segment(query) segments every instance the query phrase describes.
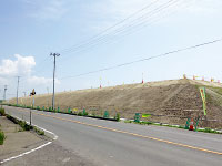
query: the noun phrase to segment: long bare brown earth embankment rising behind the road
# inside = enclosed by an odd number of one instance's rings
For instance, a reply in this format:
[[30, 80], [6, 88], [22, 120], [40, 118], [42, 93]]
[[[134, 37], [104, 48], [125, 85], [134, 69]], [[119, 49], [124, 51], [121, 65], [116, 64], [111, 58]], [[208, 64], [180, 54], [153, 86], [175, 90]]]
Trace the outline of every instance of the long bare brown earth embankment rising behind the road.
[[[200, 125], [222, 127], [222, 85], [205, 81], [171, 80], [62, 92], [56, 94], [56, 107], [80, 111], [85, 107], [98, 115], [108, 110], [112, 116], [120, 113], [125, 118], [133, 118], [134, 113], [148, 113], [152, 114], [149, 121], [184, 125], [188, 116], [203, 115], [199, 86], [206, 87], [209, 120]], [[38, 106], [51, 106], [51, 94], [36, 95], [34, 101]], [[31, 97], [19, 102], [31, 105]], [[10, 103], [16, 103], [16, 98]]]

